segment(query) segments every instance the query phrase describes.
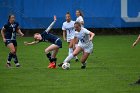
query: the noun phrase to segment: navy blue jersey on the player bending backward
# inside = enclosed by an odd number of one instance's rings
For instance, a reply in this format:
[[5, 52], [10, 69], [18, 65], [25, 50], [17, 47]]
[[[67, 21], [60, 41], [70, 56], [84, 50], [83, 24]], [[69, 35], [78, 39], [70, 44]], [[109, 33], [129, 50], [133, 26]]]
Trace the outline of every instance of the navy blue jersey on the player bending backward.
[[53, 34], [50, 34], [50, 33], [47, 33], [46, 31], [44, 31], [42, 34], [42, 40], [40, 40], [40, 42], [45, 42], [45, 41], [48, 41], [50, 43], [53, 43], [55, 44], [56, 41], [59, 39], [57, 36], [53, 35]]

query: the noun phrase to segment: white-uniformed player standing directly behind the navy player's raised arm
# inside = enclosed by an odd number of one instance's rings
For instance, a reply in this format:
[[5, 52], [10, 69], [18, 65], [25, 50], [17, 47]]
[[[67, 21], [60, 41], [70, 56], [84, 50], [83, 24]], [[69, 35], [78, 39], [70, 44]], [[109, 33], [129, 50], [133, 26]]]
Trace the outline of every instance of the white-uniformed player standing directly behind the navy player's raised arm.
[[[74, 45], [73, 45], [73, 39], [75, 35], [74, 30], [74, 23], [75, 21], [71, 20], [70, 13], [66, 13], [66, 22], [63, 23], [62, 30], [63, 30], [63, 39], [68, 42], [69, 46], [69, 53], [68, 55], [73, 53]], [[75, 62], [78, 62], [78, 57], [75, 57]]]

